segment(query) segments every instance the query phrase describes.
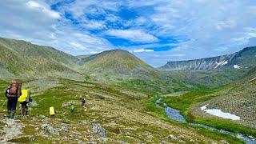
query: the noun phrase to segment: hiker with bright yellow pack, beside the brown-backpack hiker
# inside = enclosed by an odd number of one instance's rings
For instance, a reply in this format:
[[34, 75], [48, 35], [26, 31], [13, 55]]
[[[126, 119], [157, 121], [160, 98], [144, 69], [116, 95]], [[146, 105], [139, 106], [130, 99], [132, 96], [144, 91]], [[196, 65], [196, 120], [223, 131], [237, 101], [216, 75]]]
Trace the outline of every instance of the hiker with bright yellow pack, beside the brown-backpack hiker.
[[22, 95], [18, 98], [18, 102], [22, 105], [21, 109], [21, 115], [25, 116], [25, 114], [28, 114], [28, 104], [32, 102], [32, 99], [30, 97], [30, 90], [22, 90]]

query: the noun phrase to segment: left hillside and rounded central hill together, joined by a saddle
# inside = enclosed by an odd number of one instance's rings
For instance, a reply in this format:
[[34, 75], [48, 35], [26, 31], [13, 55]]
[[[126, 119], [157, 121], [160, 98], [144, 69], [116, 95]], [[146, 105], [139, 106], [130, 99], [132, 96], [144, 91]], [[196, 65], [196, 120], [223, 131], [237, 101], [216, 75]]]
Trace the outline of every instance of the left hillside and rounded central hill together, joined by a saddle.
[[151, 95], [198, 88], [190, 82], [168, 77], [126, 50], [109, 50], [88, 57], [74, 57], [51, 47], [0, 38], [0, 52], [2, 79], [83, 80], [90, 75], [94, 81], [114, 83]]

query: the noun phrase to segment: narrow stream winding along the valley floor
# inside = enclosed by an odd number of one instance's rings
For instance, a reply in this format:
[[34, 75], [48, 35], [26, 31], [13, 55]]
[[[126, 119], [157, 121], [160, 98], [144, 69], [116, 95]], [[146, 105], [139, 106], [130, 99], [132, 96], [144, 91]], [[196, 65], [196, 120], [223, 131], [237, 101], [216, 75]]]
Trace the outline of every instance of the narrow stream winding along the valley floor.
[[245, 134], [234, 134], [230, 131], [227, 130], [222, 130], [222, 129], [217, 129], [215, 127], [212, 126], [206, 126], [200, 123], [190, 123], [190, 122], [186, 122], [186, 118], [184, 118], [182, 116], [182, 114], [180, 114], [179, 110], [176, 110], [170, 106], [167, 106], [166, 103], [162, 102], [162, 99], [159, 98], [156, 102], [155, 105], [158, 108], [162, 108], [165, 109], [166, 115], [168, 116], [168, 118], [177, 121], [177, 122], [182, 122], [182, 123], [188, 123], [190, 126], [198, 126], [198, 127], [202, 127], [208, 130], [214, 130], [214, 131], [218, 131], [219, 133], [222, 134], [229, 134], [233, 137], [242, 139], [243, 141], [245, 141], [247, 144], [255, 144], [256, 143], [256, 138], [252, 137], [252, 136], [246, 136]]

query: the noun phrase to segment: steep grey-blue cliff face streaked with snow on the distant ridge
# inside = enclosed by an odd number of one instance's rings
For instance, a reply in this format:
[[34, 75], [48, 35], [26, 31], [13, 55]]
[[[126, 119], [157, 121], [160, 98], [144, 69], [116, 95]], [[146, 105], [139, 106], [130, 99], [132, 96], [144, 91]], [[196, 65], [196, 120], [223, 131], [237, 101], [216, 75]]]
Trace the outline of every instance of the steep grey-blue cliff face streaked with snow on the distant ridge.
[[214, 70], [230, 66], [234, 69], [252, 67], [256, 64], [256, 47], [247, 47], [234, 54], [213, 58], [202, 58], [189, 61], [167, 62], [162, 69], [166, 70]]

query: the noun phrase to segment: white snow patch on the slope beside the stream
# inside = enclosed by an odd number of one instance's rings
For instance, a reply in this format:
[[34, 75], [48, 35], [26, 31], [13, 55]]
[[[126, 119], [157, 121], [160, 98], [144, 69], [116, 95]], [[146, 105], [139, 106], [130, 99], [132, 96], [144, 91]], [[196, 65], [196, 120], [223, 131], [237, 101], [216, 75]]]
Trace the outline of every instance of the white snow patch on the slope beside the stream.
[[217, 117], [227, 118], [227, 119], [232, 119], [232, 120], [240, 120], [240, 117], [238, 117], [234, 114], [224, 113], [224, 112], [222, 112], [222, 110], [218, 110], [218, 109], [207, 109], [208, 105], [209, 104], [202, 106], [201, 110], [205, 111], [208, 114], [215, 115]]

